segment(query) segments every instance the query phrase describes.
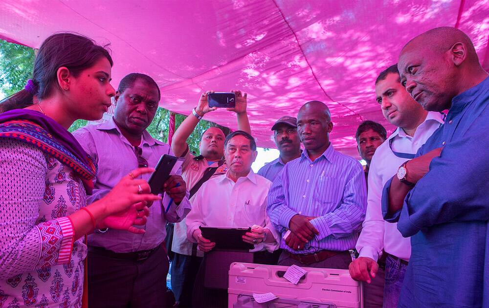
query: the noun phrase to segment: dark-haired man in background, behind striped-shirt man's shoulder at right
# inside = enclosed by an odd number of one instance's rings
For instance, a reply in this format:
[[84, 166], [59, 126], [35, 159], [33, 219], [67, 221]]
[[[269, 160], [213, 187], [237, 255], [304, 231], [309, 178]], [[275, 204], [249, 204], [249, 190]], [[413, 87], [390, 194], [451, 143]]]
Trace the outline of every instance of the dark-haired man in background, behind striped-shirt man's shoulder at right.
[[372, 156], [374, 156], [375, 150], [377, 150], [378, 146], [381, 145], [385, 139], [387, 139], [387, 132], [381, 124], [367, 120], [358, 125], [355, 139], [358, 154], [360, 154], [360, 157], [367, 163], [365, 169], [363, 170], [365, 172], [365, 181], [367, 181]]

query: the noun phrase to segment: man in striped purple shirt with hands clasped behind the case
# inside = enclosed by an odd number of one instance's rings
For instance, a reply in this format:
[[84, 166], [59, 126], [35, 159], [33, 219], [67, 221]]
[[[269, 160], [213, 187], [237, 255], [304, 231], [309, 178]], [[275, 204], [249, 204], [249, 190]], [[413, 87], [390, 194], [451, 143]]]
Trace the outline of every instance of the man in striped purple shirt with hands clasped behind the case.
[[[305, 151], [287, 163], [268, 193], [267, 213], [282, 239], [279, 265], [348, 269], [367, 208], [360, 163], [333, 149], [328, 107], [311, 101], [297, 114]], [[289, 232], [290, 231], [290, 232]]]

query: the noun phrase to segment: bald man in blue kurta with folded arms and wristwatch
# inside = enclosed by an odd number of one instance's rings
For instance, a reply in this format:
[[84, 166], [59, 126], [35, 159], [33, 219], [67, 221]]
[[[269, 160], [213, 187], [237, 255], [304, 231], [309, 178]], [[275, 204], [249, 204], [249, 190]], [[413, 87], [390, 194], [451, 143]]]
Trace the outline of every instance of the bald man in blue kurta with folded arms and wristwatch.
[[411, 236], [398, 307], [489, 307], [489, 78], [462, 31], [440, 27], [406, 44], [401, 83], [445, 124], [400, 166], [382, 195]]

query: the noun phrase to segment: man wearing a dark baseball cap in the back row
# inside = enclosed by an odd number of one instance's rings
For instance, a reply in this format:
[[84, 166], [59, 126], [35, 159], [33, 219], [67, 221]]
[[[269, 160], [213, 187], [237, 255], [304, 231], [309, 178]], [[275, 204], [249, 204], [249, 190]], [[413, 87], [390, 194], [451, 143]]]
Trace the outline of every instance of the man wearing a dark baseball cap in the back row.
[[281, 117], [273, 124], [272, 131], [280, 155], [260, 168], [258, 175], [273, 182], [285, 164], [301, 155], [301, 141], [297, 134], [297, 119], [294, 117], [288, 115]]

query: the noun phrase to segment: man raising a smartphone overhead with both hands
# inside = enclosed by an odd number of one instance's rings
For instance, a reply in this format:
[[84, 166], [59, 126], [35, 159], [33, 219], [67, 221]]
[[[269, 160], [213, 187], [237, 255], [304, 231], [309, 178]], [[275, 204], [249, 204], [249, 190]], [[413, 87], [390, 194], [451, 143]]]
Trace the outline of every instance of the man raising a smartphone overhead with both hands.
[[[247, 94], [239, 90], [231, 92], [234, 93], [236, 98], [235, 107], [227, 108], [226, 110], [236, 113], [238, 130], [250, 133], [251, 129], [246, 113]], [[216, 107], [209, 107], [208, 95], [210, 93], [212, 91], [207, 91], [200, 95], [197, 107], [178, 126], [172, 139], [173, 153], [185, 158], [182, 166], [182, 176], [189, 187], [191, 201], [205, 181], [216, 176], [222, 176], [228, 170], [223, 159], [224, 139], [226, 136], [221, 129], [211, 127], [202, 134], [199, 156], [194, 156], [190, 153], [186, 143], [200, 119], [206, 113], [217, 109]], [[172, 290], [179, 307], [190, 307], [195, 277], [199, 270], [203, 253], [197, 249], [197, 244], [187, 240], [185, 221], [176, 223], [174, 228], [171, 246], [172, 251], [175, 253], [171, 268]]]

